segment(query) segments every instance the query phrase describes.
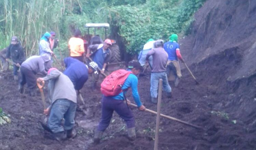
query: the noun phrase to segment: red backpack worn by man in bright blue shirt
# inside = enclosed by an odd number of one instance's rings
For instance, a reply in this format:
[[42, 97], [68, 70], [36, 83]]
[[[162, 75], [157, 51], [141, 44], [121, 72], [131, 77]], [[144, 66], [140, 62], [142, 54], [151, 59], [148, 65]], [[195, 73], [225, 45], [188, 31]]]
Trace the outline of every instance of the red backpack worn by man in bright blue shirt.
[[131, 71], [119, 69], [108, 75], [100, 84], [100, 91], [105, 96], [115, 96], [121, 93], [122, 86]]

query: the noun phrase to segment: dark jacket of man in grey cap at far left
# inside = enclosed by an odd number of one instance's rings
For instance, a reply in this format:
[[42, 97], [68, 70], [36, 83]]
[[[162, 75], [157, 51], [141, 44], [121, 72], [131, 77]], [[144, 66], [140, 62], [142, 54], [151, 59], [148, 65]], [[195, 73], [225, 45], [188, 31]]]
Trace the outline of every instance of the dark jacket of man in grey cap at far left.
[[12, 59], [14, 63], [22, 64], [26, 60], [22, 45], [19, 42], [17, 44], [10, 44], [7, 49], [6, 58]]

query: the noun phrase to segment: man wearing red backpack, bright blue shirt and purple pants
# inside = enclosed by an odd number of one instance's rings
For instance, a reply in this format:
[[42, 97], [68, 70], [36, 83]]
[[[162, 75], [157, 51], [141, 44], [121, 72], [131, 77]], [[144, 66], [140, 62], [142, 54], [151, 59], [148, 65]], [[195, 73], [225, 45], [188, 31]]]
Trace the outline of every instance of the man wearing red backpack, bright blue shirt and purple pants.
[[[135, 119], [131, 109], [128, 107], [125, 93], [131, 87], [132, 96], [136, 102], [139, 110], [145, 110], [145, 106], [140, 101], [138, 93], [138, 78], [136, 75], [143, 70], [138, 61], [132, 60], [128, 63], [127, 70], [117, 70], [106, 77], [101, 83], [101, 92], [103, 93], [101, 99], [102, 116], [98, 128], [95, 131], [94, 142], [99, 143], [103, 132], [109, 126], [113, 111], [125, 120], [127, 126], [127, 134], [130, 140], [134, 140], [135, 133]], [[109, 90], [112, 88], [112, 91]], [[118, 89], [119, 88], [119, 89]], [[118, 92], [119, 90], [119, 92]], [[128, 101], [128, 100], [126, 100]]]

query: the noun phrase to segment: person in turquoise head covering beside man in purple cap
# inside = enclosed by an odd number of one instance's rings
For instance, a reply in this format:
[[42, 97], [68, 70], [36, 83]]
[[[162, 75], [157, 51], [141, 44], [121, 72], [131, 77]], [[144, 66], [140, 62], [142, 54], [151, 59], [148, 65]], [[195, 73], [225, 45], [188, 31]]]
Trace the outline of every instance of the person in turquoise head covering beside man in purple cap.
[[[49, 57], [49, 60], [51, 60], [51, 55], [54, 55], [54, 52], [50, 48], [49, 38], [51, 34], [49, 32], [45, 32], [42, 36], [40, 42], [39, 42], [39, 52], [41, 55], [46, 55]], [[49, 70], [52, 67], [52, 60], [47, 61], [45, 64], [45, 70]]]

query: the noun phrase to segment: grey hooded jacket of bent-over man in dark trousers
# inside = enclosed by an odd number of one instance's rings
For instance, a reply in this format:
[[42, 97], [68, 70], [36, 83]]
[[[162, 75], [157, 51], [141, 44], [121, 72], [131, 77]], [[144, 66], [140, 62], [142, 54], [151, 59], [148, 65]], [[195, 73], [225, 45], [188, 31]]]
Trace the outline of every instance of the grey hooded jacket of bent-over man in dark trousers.
[[46, 75], [47, 72], [45, 71], [44, 63], [49, 60], [50, 59], [47, 55], [31, 56], [25, 60], [21, 66], [31, 70], [34, 74], [41, 72]]

